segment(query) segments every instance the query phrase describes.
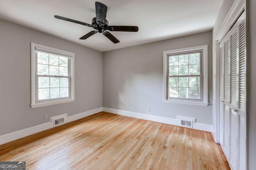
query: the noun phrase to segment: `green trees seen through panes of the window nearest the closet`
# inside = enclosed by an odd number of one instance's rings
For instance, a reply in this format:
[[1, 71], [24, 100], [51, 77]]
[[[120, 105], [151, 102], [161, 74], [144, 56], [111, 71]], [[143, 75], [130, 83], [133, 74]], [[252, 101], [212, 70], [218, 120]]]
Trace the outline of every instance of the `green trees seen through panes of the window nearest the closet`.
[[201, 58], [201, 51], [168, 56], [169, 98], [201, 98]]

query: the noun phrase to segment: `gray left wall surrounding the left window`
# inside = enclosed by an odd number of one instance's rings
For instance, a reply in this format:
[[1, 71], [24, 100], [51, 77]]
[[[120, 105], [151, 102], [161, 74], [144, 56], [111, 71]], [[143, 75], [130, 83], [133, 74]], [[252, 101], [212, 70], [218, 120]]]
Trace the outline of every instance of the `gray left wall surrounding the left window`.
[[[31, 108], [30, 43], [75, 53], [75, 101]], [[0, 19], [0, 135], [102, 107], [102, 52]]]

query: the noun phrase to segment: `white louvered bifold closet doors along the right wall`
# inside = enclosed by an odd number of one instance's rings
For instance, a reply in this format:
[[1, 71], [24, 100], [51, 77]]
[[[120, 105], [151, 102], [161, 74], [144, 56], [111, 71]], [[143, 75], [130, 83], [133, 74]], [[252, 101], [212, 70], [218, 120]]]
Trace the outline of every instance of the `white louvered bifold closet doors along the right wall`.
[[233, 170], [246, 169], [244, 14], [219, 44], [220, 145]]

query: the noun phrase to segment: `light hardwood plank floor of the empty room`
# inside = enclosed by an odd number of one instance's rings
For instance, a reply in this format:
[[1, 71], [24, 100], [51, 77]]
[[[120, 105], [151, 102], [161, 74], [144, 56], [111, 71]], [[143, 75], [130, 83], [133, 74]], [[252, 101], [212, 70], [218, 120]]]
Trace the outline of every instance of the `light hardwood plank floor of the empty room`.
[[101, 112], [0, 145], [27, 170], [230, 169], [211, 133]]

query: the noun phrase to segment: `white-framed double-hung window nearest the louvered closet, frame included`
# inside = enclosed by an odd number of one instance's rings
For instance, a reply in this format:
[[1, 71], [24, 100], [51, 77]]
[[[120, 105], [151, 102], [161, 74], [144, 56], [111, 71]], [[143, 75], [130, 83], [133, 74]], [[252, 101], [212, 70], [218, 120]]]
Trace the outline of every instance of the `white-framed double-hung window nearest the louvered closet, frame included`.
[[164, 51], [164, 102], [208, 106], [207, 45]]

